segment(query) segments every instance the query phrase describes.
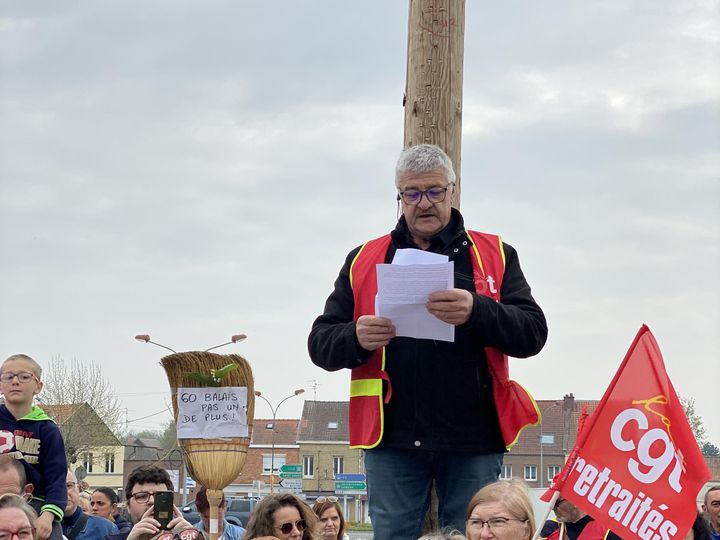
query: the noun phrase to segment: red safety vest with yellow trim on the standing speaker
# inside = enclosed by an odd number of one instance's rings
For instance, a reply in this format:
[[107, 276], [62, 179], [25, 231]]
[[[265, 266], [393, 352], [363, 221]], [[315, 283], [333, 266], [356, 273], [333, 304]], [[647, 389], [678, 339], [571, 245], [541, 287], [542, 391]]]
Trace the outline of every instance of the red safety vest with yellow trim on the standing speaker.
[[[478, 294], [500, 301], [500, 288], [505, 273], [505, 252], [499, 236], [467, 231], [472, 243], [472, 268]], [[350, 265], [350, 286], [355, 300], [353, 319], [375, 314], [377, 277], [375, 265], [385, 262], [390, 246], [387, 234], [365, 243]], [[495, 408], [500, 431], [509, 450], [520, 431], [536, 425], [540, 412], [532, 396], [518, 383], [510, 380], [507, 356], [497, 349], [485, 348], [492, 378]], [[353, 368], [350, 380], [350, 447], [374, 448], [383, 436], [383, 405], [392, 398], [392, 384], [385, 371], [385, 347], [375, 350], [367, 363]], [[383, 398], [383, 381], [387, 392]]]

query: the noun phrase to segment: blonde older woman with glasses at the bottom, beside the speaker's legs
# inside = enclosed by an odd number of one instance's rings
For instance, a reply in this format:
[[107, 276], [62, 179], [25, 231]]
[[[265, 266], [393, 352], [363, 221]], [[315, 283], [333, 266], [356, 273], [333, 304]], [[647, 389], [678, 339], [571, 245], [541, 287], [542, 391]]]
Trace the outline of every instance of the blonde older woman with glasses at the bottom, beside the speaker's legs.
[[535, 517], [527, 486], [518, 480], [486, 485], [470, 500], [465, 527], [468, 540], [530, 540]]

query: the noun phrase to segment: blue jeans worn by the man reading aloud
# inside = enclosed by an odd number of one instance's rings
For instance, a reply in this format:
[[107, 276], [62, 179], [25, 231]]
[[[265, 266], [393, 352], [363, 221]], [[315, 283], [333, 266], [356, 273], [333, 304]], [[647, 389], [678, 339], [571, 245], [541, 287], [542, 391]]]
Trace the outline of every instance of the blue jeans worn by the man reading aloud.
[[375, 448], [365, 452], [375, 540], [416, 540], [430, 505], [432, 481], [440, 528], [465, 531], [467, 505], [500, 475], [502, 454], [468, 455]]

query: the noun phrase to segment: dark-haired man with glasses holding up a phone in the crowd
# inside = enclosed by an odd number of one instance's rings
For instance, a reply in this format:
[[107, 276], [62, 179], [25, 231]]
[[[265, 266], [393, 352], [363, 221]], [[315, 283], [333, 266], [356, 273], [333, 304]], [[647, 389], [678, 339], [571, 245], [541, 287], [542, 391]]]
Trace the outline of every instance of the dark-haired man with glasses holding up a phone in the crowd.
[[[146, 465], [131, 472], [125, 483], [125, 497], [133, 528], [129, 533], [107, 535], [105, 540], [147, 540], [158, 534], [160, 523], [153, 518], [153, 503], [158, 491], [174, 491], [170, 475], [165, 469]], [[173, 511], [175, 518], [168, 523], [169, 531], [178, 534], [193, 528], [183, 519], [177, 507], [173, 506]]]

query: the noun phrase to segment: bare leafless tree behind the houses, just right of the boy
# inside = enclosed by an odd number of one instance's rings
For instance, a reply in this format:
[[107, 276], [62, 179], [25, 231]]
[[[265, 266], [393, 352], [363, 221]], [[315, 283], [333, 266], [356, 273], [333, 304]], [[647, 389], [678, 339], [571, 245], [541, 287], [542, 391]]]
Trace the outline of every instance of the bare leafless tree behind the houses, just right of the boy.
[[45, 387], [39, 397], [42, 404], [87, 403], [113, 434], [121, 435], [124, 409], [98, 364], [53, 357], [44, 369], [43, 381]]

